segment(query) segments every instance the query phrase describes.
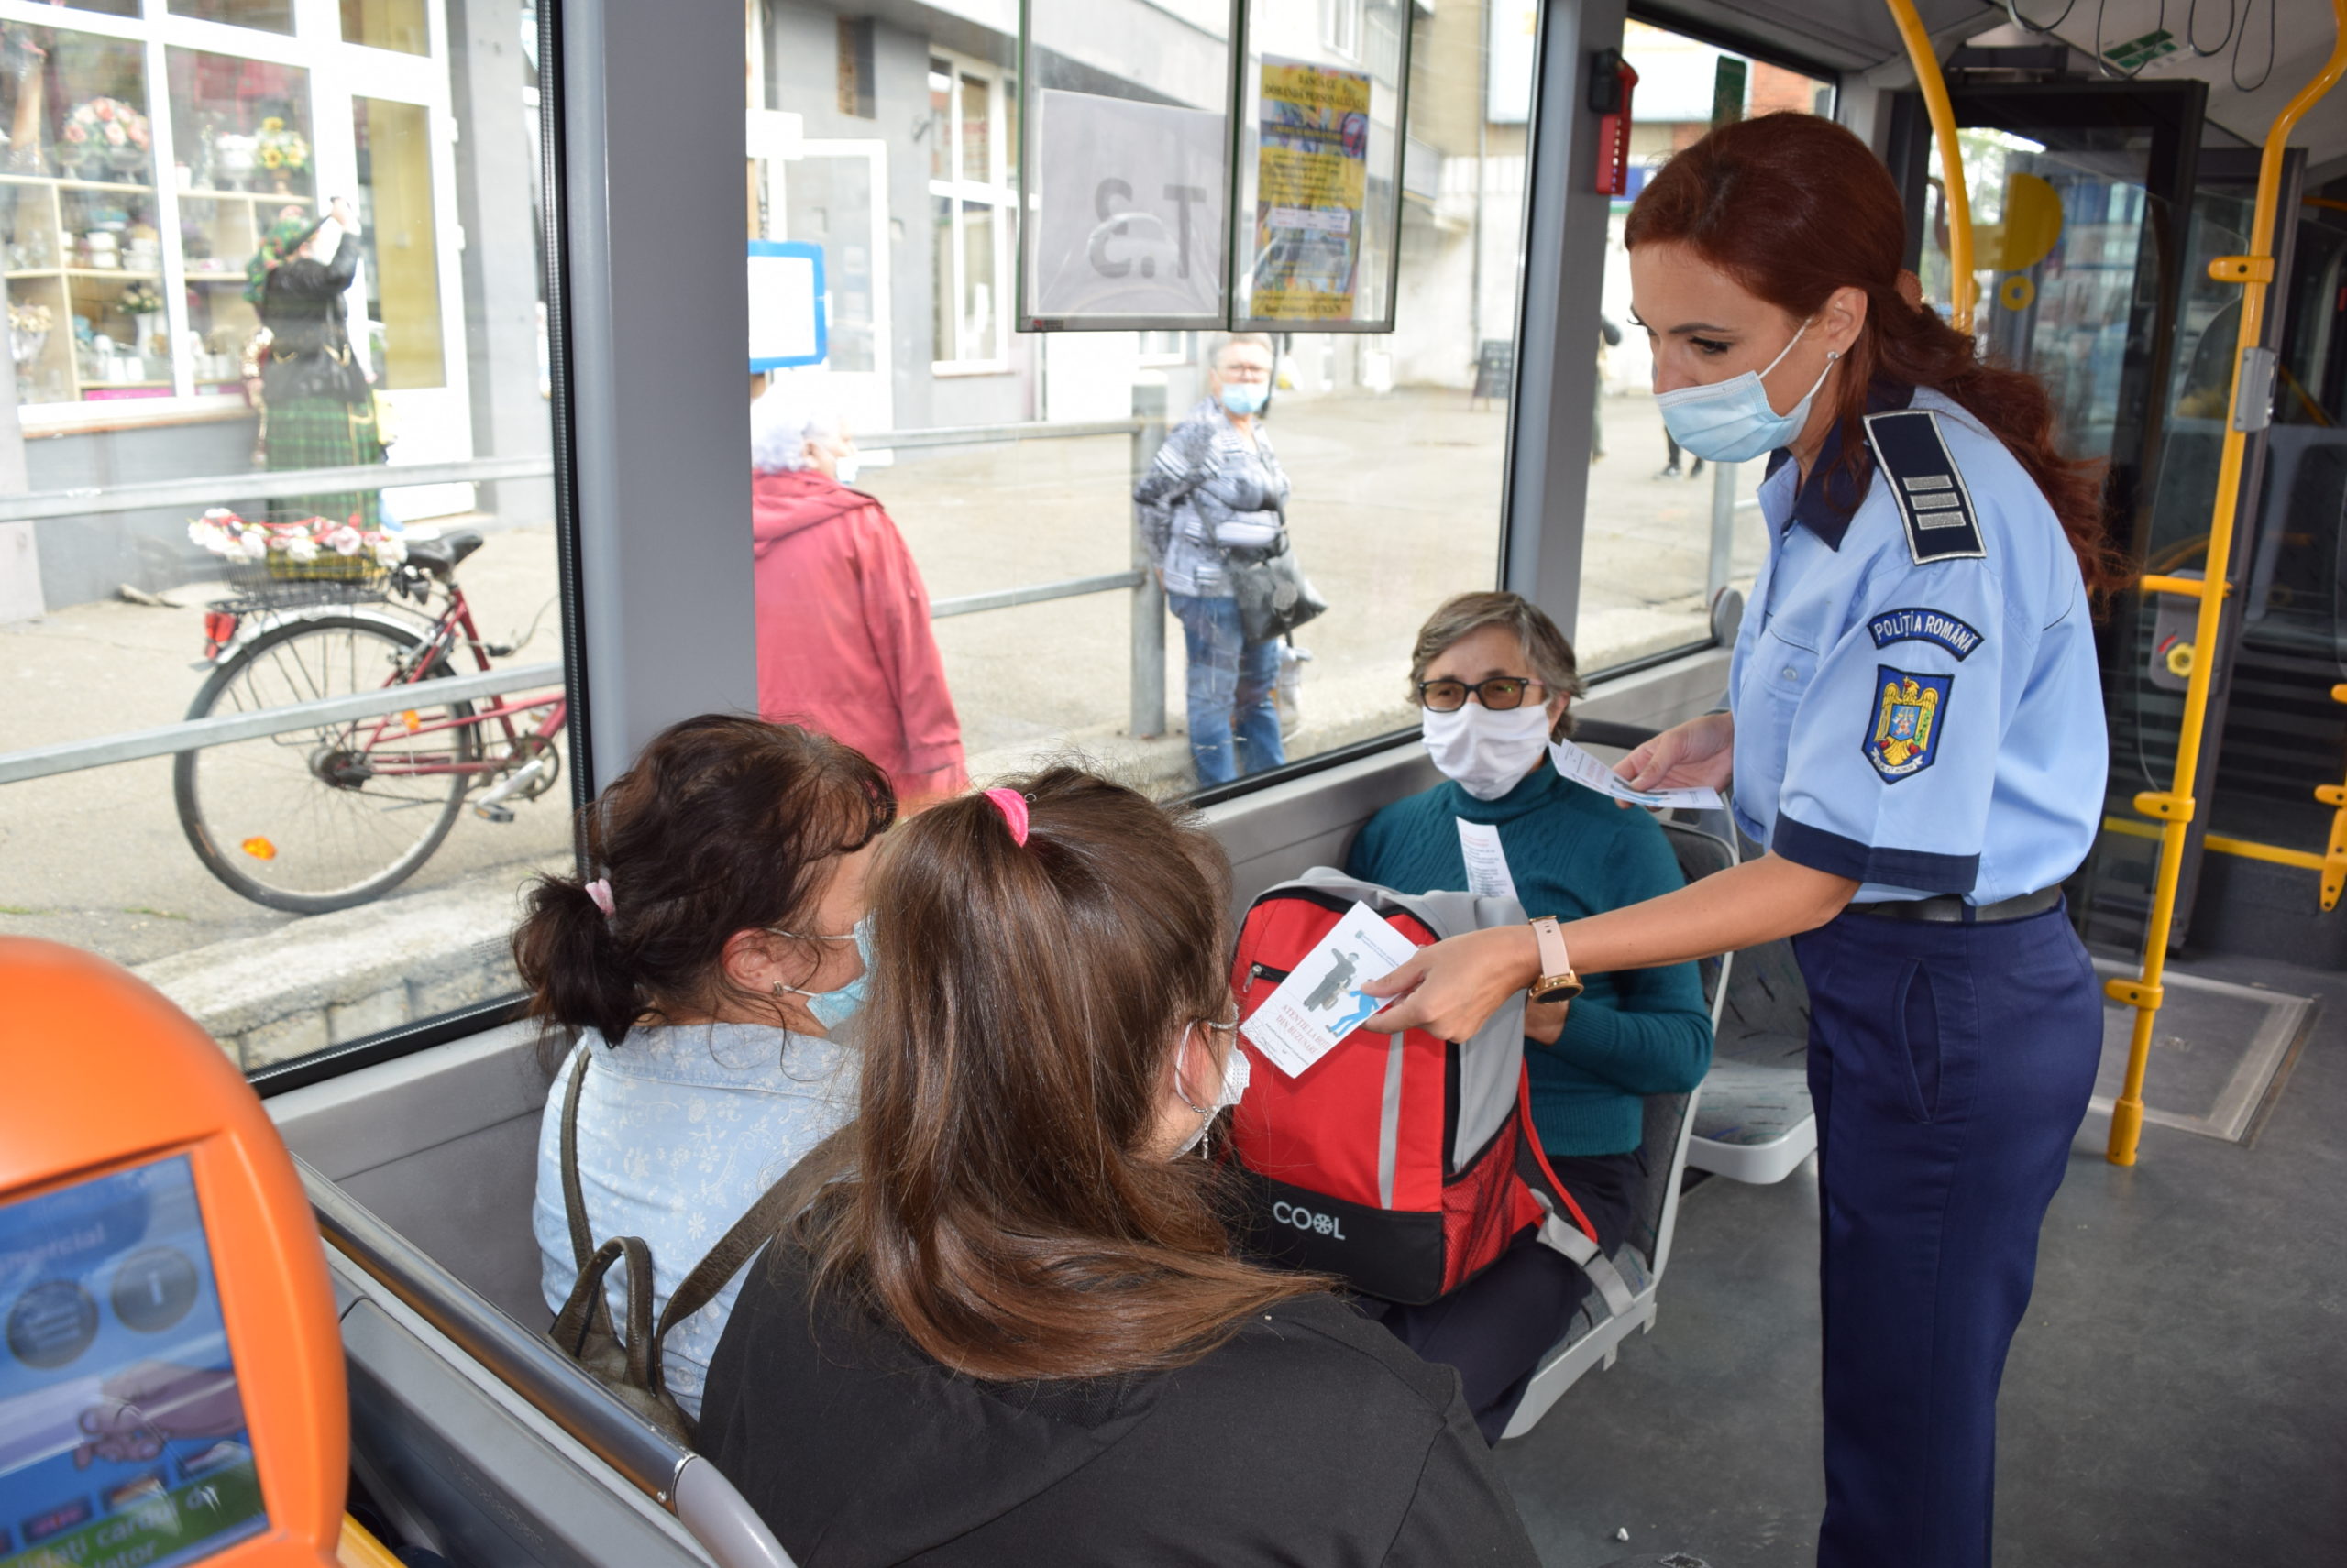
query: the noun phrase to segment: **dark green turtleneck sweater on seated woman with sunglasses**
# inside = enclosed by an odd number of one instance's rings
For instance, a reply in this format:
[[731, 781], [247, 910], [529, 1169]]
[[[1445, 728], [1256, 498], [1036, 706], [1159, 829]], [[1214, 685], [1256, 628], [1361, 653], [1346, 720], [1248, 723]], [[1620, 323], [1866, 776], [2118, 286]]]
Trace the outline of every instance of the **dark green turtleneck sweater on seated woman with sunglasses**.
[[[1345, 873], [1396, 892], [1467, 887], [1457, 819], [1500, 829], [1528, 915], [1580, 920], [1683, 887], [1662, 826], [1542, 763], [1497, 800], [1453, 782], [1394, 800], [1352, 843]], [[1645, 1094], [1685, 1094], [1711, 1066], [1711, 1012], [1695, 965], [1582, 974], [1556, 1045], [1523, 1042], [1533, 1124], [1551, 1155], [1626, 1155]]]

